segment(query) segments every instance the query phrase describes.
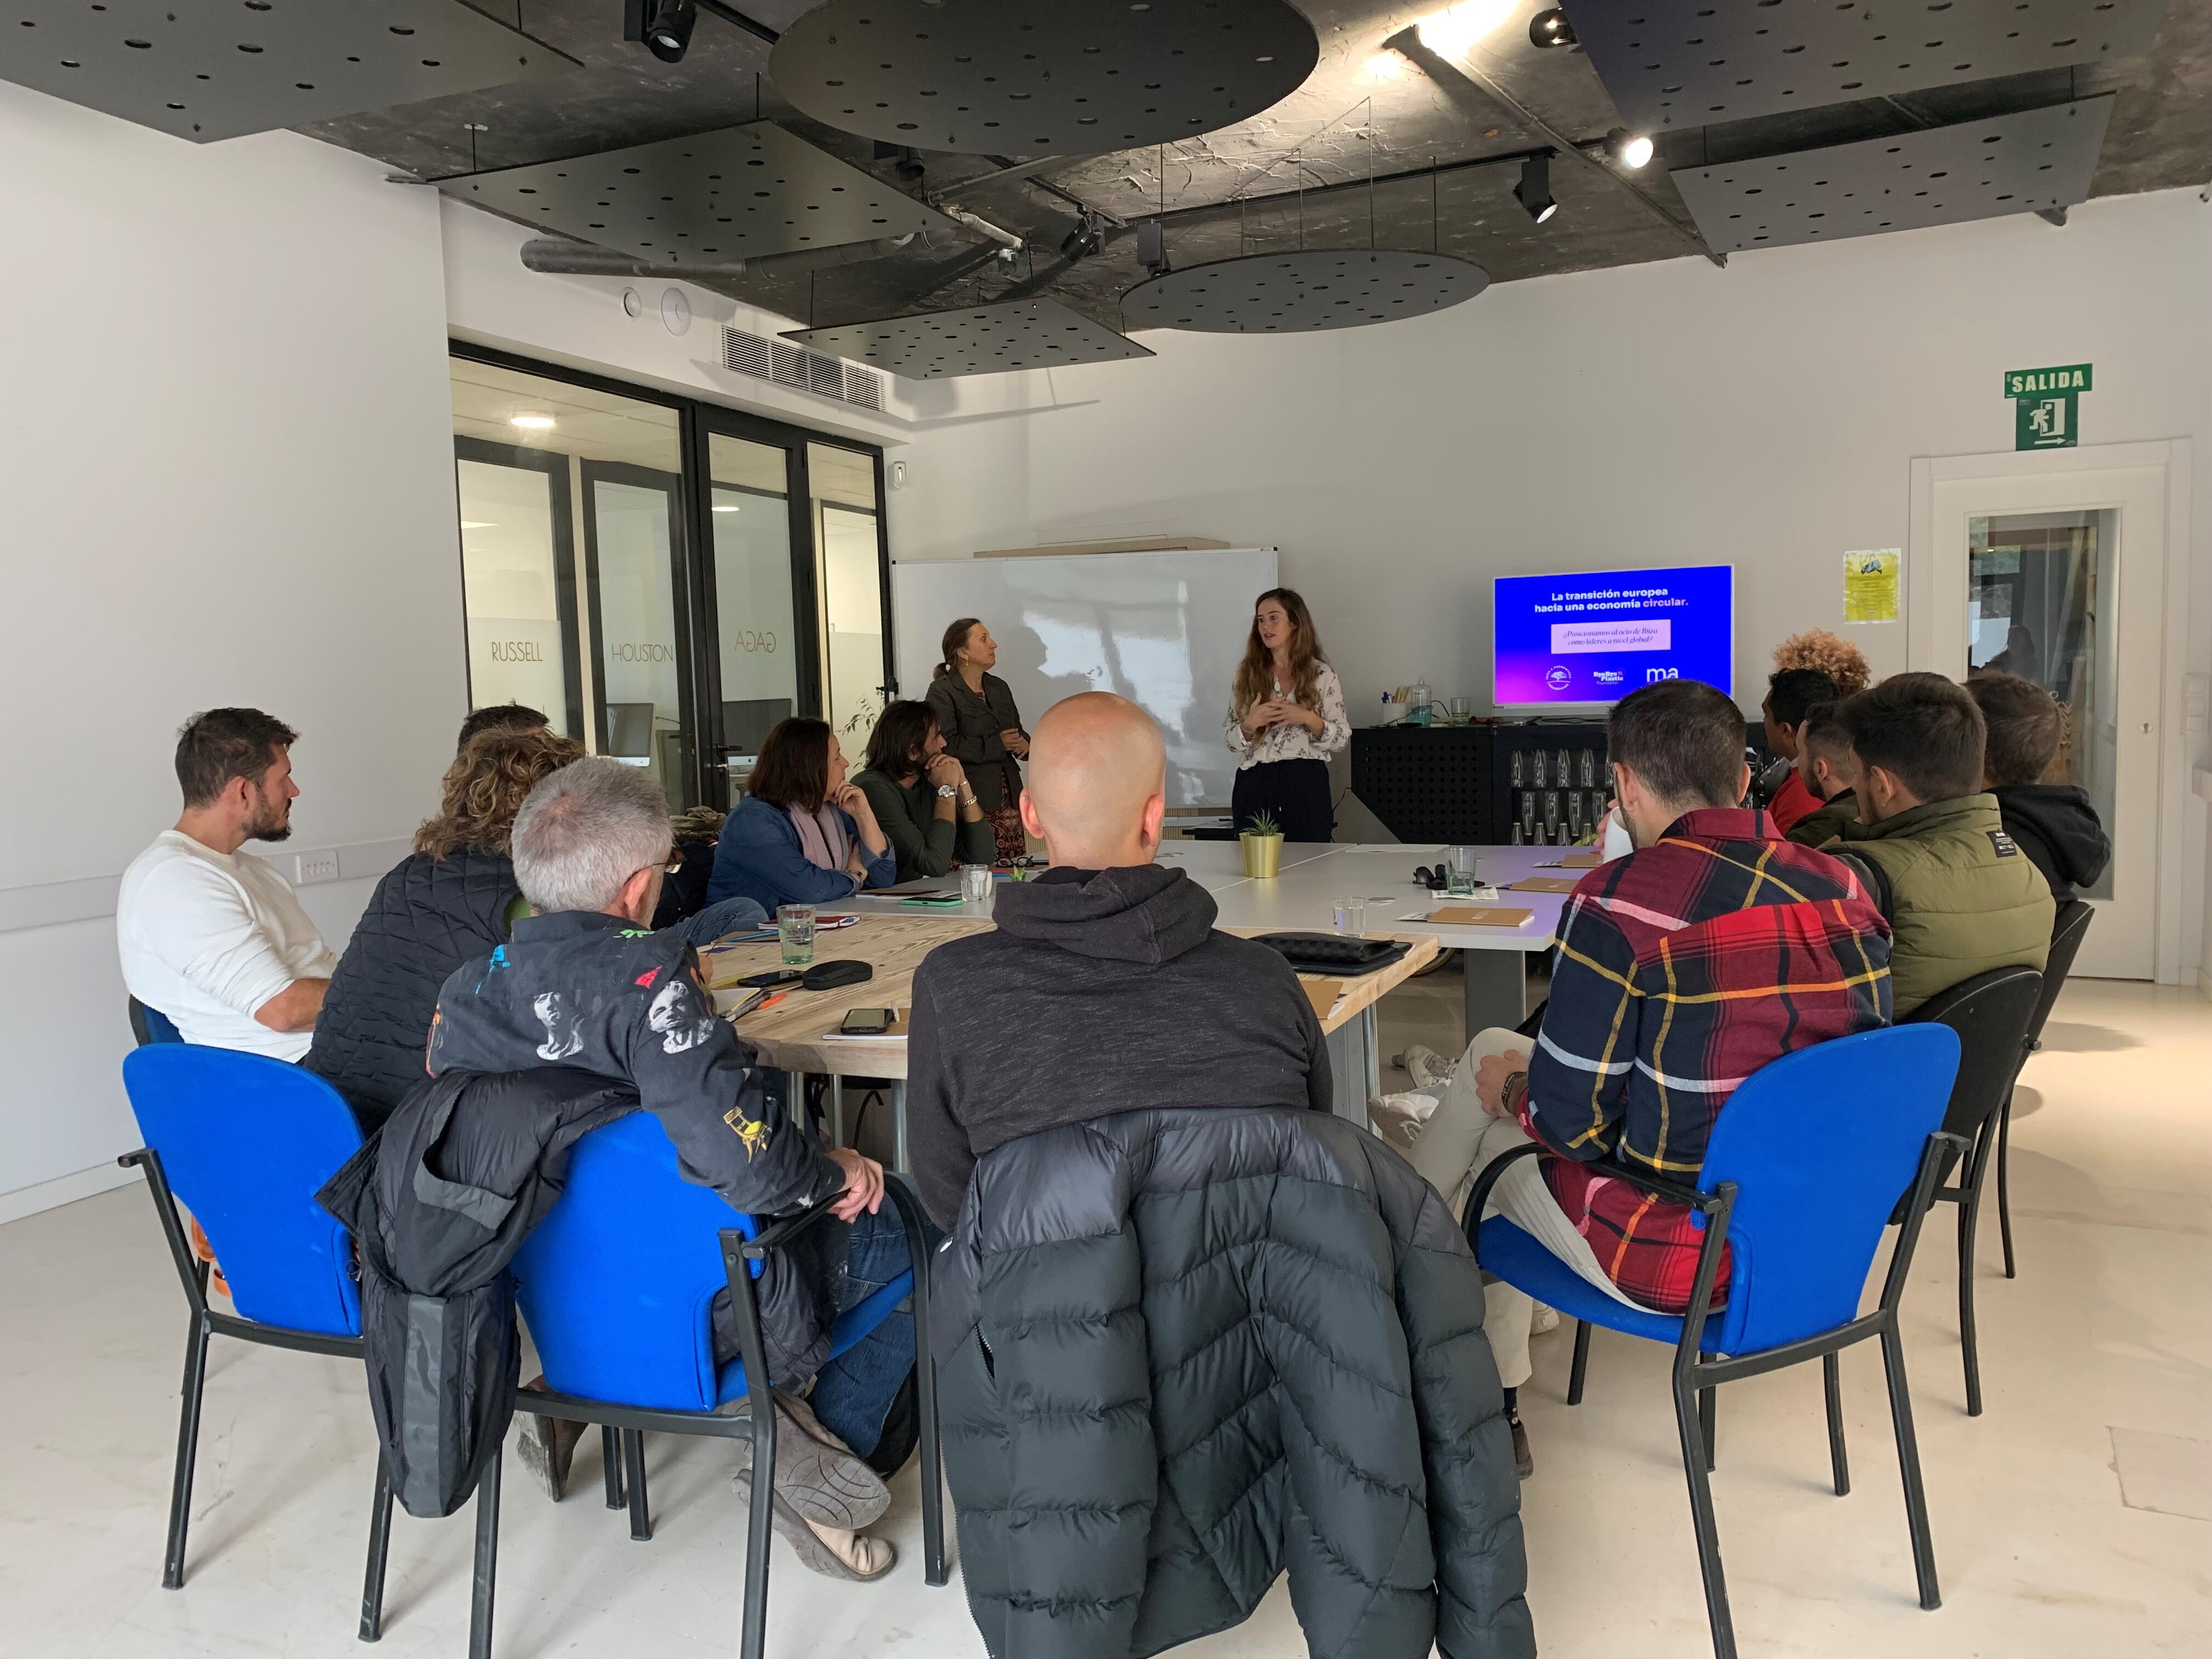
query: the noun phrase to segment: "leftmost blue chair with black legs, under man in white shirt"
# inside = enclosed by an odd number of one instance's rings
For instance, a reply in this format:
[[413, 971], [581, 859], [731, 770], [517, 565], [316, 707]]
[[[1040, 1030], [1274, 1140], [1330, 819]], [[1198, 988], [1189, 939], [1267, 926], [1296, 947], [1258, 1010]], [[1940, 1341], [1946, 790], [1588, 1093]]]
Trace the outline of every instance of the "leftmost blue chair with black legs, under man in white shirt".
[[[153, 1009], [148, 1009], [153, 1013]], [[199, 1451], [208, 1338], [361, 1358], [354, 1241], [314, 1194], [361, 1146], [345, 1099], [301, 1066], [230, 1048], [155, 1040], [124, 1055], [124, 1091], [146, 1146], [117, 1159], [146, 1175], [192, 1321], [184, 1340], [184, 1416], [168, 1500], [161, 1588], [184, 1586], [184, 1540]], [[192, 1259], [177, 1199], [223, 1265], [237, 1314], [208, 1307], [208, 1267]], [[392, 1484], [376, 1464], [361, 1639], [383, 1632]]]

